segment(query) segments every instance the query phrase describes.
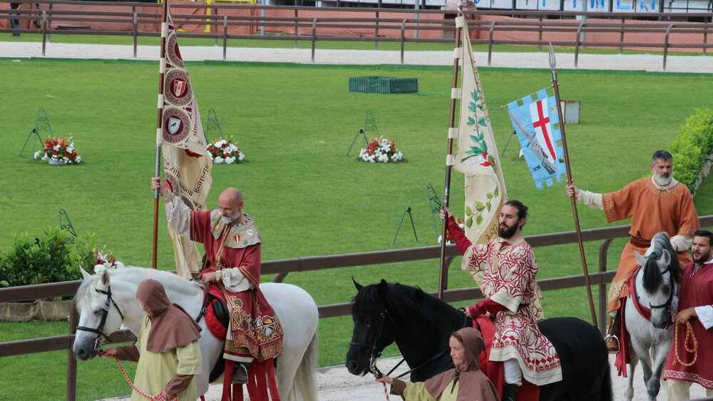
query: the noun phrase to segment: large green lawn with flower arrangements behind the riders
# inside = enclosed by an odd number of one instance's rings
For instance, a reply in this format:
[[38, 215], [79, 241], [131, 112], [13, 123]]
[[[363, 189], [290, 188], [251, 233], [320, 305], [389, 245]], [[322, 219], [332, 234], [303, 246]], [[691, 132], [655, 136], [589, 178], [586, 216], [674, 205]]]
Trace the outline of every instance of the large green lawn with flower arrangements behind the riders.
[[[263, 258], [363, 252], [435, 243], [425, 186], [443, 190], [443, 153], [448, 124], [450, 68], [419, 66], [301, 66], [290, 64], [189, 63], [202, 116], [215, 108], [226, 134], [247, 155], [239, 166], [217, 165], [209, 205], [225, 186], [245, 193], [245, 205], [259, 225]], [[0, 213], [6, 216], [0, 249], [12, 234], [41, 232], [56, 225], [64, 208], [79, 233], [95, 232], [119, 260], [148, 266], [151, 248], [158, 65], [115, 61], [0, 60], [6, 82], [0, 103]], [[420, 93], [349, 93], [349, 76], [419, 78]], [[503, 148], [512, 128], [499, 106], [549, 84], [549, 71], [482, 68], [481, 78]], [[684, 118], [713, 104], [713, 81], [703, 74], [561, 71], [563, 98], [582, 102], [582, 120], [568, 126], [573, 174], [578, 185], [612, 191], [645, 176], [650, 155], [666, 148]], [[691, 94], [695, 93], [695, 96]], [[55, 168], [18, 157], [35, 113], [48, 112], [58, 136], [73, 136], [85, 163]], [[346, 157], [364, 113], [374, 111], [379, 132], [395, 138], [407, 158], [396, 165], [371, 165]], [[357, 152], [358, 153], [358, 152]], [[528, 235], [572, 230], [569, 200], [562, 184], [537, 191], [511, 143], [501, 163], [508, 196], [530, 206]], [[461, 210], [462, 181], [453, 179], [451, 208]], [[696, 197], [700, 215], [713, 213], [713, 183]], [[419, 242], [402, 228], [391, 245], [401, 213], [414, 213]], [[600, 211], [581, 210], [583, 228], [605, 226]], [[625, 223], [625, 222], [622, 222]], [[160, 220], [159, 265], [173, 260], [165, 219]], [[615, 266], [623, 240], [609, 253]], [[593, 270], [599, 243], [588, 243]], [[574, 245], [537, 248], [540, 278], [581, 271]], [[451, 267], [451, 288], [471, 287], [471, 279]], [[375, 265], [293, 273], [287, 283], [305, 288], [319, 305], [346, 302], [361, 283], [380, 278], [435, 290], [438, 262]], [[270, 277], [263, 277], [270, 280]], [[327, 283], [327, 285], [325, 285]], [[595, 293], [596, 295], [596, 293]], [[545, 293], [548, 316], [588, 319], [585, 290]], [[0, 342], [59, 335], [66, 323], [0, 323]], [[342, 363], [352, 332], [350, 318], [320, 321], [321, 365]], [[389, 354], [394, 350], [390, 349]], [[66, 352], [0, 358], [0, 400], [61, 400]], [[41, 375], [41, 376], [40, 376]], [[35, 380], [42, 377], [42, 380]], [[31, 383], [31, 384], [30, 384]], [[128, 393], [113, 362], [79, 364], [81, 400]]]

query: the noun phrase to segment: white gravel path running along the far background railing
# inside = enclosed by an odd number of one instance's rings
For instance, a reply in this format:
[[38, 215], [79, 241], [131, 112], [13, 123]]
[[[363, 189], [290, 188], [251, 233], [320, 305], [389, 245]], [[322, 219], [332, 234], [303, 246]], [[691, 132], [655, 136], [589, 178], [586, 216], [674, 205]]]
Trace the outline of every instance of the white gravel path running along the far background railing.
[[[41, 58], [39, 42], [0, 42], [0, 57]], [[222, 60], [221, 46], [184, 46], [185, 60]], [[138, 59], [158, 59], [158, 46], [138, 46]], [[262, 61], [311, 64], [309, 49], [227, 48], [228, 61]], [[46, 57], [59, 59], [133, 59], [132, 46], [101, 44], [55, 44], [46, 47]], [[404, 64], [446, 66], [452, 64], [451, 51], [406, 51]], [[476, 53], [480, 66], [486, 53]], [[317, 49], [317, 64], [400, 64], [398, 51]], [[493, 53], [493, 67], [548, 68], [547, 53]], [[574, 54], [559, 54], [558, 68], [574, 68]], [[663, 71], [662, 56], [654, 54], [580, 54], [579, 69]], [[713, 73], [713, 57], [669, 56], [667, 72]]]

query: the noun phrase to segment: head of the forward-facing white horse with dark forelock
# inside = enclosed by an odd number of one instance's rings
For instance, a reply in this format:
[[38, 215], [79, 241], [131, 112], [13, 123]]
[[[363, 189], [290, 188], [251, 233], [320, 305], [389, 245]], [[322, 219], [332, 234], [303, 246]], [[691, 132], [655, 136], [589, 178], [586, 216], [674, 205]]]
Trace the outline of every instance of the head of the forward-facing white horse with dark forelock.
[[672, 300], [681, 281], [681, 267], [667, 233], [657, 233], [646, 255], [636, 253], [643, 269], [643, 287], [649, 298], [651, 323], [665, 329], [672, 323]]

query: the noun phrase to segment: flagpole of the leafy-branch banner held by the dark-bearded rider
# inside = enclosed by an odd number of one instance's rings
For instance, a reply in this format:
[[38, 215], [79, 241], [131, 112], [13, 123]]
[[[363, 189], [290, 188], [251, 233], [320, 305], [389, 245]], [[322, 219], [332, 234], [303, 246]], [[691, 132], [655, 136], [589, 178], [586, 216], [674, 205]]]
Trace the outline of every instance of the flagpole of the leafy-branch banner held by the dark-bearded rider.
[[[465, 19], [463, 13], [461, 12], [460, 6], [458, 6], [458, 17]], [[463, 28], [457, 26], [456, 24], [456, 49], [461, 47], [461, 33]], [[461, 51], [461, 56], [463, 51]], [[453, 81], [451, 81], [451, 88], [458, 87], [458, 61], [460, 57], [453, 57]], [[451, 113], [448, 117], [448, 128], [456, 127], [456, 98], [451, 96]], [[453, 165], [451, 159], [453, 158], [453, 138], [448, 138], [448, 146], [446, 147], [446, 185], [444, 186], [443, 193], [443, 208], [448, 208], [448, 202], [451, 196], [451, 172], [453, 171]], [[446, 263], [446, 233], [448, 233], [448, 219], [443, 220], [443, 230], [441, 232], [441, 274], [438, 276], [438, 298], [443, 299], [443, 291], [446, 290], [448, 286], [448, 263]]]

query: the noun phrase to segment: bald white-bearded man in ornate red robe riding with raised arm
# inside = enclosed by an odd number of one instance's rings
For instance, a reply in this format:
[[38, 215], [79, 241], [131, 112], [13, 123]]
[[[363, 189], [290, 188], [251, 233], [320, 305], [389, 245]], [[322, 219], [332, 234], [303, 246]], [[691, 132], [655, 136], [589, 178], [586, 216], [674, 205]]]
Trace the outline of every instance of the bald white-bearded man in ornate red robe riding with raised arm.
[[152, 179], [151, 188], [161, 189], [170, 228], [205, 248], [198, 277], [225, 296], [230, 327], [223, 357], [240, 364], [233, 381], [244, 383], [250, 362], [282, 352], [282, 326], [260, 291], [260, 233], [250, 215], [242, 213], [242, 193], [226, 188], [217, 209], [191, 210], [160, 178]]

